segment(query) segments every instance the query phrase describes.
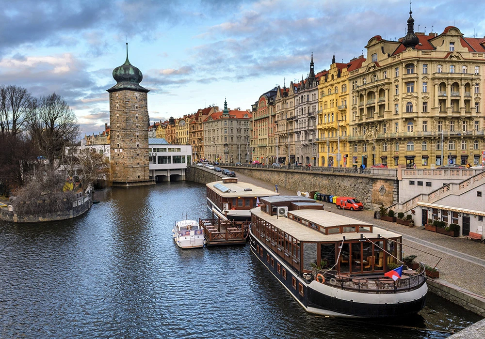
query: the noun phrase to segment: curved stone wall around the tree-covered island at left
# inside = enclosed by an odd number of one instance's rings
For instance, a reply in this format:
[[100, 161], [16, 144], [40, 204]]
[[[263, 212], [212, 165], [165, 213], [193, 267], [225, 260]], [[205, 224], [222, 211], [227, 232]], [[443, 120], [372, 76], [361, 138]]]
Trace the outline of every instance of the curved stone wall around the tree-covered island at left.
[[[42, 203], [42, 202], [39, 202]], [[75, 203], [76, 206], [72, 206], [71, 209], [62, 212], [49, 213], [49, 214], [39, 214], [39, 215], [22, 215], [15, 211], [14, 206], [7, 205], [7, 208], [0, 208], [0, 220], [10, 221], [10, 222], [45, 222], [45, 221], [55, 221], [55, 220], [65, 220], [80, 216], [93, 204], [92, 194], [89, 193], [87, 196], [77, 197]], [[11, 211], [10, 211], [11, 210]]]

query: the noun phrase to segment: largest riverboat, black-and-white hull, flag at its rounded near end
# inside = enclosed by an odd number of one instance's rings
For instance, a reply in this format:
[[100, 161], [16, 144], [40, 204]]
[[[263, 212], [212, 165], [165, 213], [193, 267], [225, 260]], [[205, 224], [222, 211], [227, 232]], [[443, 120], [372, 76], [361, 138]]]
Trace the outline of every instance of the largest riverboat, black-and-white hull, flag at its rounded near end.
[[260, 202], [251, 210], [251, 251], [308, 312], [372, 318], [424, 307], [422, 264], [397, 280], [384, 276], [401, 265], [401, 235], [301, 197]]

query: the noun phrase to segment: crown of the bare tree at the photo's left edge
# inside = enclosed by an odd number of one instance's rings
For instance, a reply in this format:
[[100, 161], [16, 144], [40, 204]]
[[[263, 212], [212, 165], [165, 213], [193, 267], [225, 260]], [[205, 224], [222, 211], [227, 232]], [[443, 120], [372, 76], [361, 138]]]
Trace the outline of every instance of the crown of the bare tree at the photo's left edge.
[[35, 100], [25, 88], [0, 86], [0, 133], [16, 136], [25, 127], [28, 113], [35, 108]]

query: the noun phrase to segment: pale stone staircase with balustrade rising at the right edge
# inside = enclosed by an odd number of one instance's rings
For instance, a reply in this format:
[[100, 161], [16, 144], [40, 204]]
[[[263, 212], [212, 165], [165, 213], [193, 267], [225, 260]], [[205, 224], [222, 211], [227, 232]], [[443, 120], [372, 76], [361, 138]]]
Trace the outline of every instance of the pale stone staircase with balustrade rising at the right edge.
[[466, 191], [472, 188], [475, 188], [476, 186], [482, 185], [484, 183], [485, 183], [485, 171], [482, 171], [472, 177], [469, 177], [468, 179], [463, 180], [460, 183], [443, 185], [428, 194], [418, 194], [417, 196], [403, 203], [395, 203], [394, 205], [389, 206], [387, 210], [406, 213], [416, 208], [418, 206], [418, 201], [433, 203], [450, 194], [454, 194], [454, 195], [463, 194]]

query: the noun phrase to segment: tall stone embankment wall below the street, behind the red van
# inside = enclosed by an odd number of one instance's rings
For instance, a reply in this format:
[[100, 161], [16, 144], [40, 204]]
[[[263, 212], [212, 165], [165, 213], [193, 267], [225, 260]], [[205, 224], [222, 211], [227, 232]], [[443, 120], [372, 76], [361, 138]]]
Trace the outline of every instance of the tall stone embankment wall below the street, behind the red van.
[[317, 191], [340, 197], [356, 197], [364, 208], [378, 210], [381, 204], [390, 206], [399, 200], [397, 178], [385, 178], [350, 173], [328, 173], [307, 170], [283, 170], [227, 167], [249, 177], [277, 184], [295, 192]]

